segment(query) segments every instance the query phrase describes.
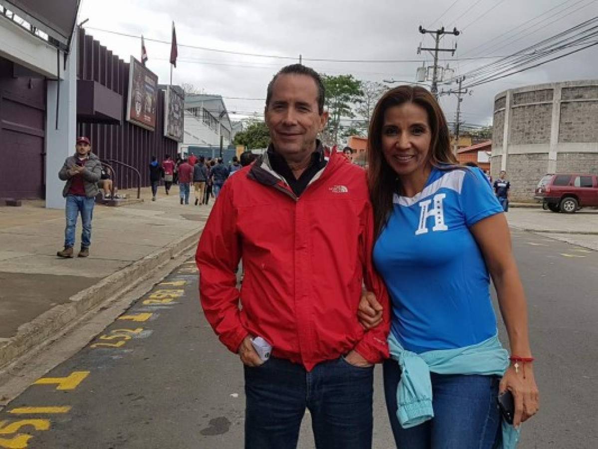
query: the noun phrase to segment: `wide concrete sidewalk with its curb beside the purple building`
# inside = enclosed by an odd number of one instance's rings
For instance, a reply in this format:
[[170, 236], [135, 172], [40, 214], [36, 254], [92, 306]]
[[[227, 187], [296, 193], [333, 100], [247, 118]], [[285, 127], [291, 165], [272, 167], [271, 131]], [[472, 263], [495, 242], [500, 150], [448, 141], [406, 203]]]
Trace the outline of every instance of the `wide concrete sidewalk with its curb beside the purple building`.
[[[149, 188], [141, 196], [143, 203], [130, 206], [96, 205], [86, 259], [56, 256], [62, 210], [45, 209], [43, 201], [0, 207], [0, 367], [197, 244], [211, 205], [181, 206], [176, 185], [170, 196], [161, 187], [157, 201]], [[79, 220], [76, 252], [80, 234]]]

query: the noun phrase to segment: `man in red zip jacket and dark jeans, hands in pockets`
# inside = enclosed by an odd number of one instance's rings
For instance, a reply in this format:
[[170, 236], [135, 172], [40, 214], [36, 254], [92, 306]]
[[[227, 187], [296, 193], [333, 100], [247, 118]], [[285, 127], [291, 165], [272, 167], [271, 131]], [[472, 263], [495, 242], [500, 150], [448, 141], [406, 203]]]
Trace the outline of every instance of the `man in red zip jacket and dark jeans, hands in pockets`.
[[[280, 70], [265, 115], [269, 149], [225, 182], [196, 254], [206, 319], [244, 365], [245, 448], [296, 447], [307, 408], [316, 447], [370, 449], [389, 307], [371, 261], [365, 172], [325, 157], [316, 140], [328, 114], [313, 69]], [[364, 282], [383, 306], [367, 332], [357, 320]]]

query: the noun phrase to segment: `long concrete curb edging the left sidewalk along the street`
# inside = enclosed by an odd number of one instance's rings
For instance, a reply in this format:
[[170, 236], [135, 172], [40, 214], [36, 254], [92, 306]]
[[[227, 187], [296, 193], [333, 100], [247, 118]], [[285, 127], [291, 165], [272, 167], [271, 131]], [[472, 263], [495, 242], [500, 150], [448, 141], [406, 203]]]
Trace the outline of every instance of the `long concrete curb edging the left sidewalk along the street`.
[[116, 294], [123, 294], [135, 288], [146, 274], [175, 258], [192, 245], [197, 245], [202, 231], [203, 224], [198, 230], [185, 234], [176, 242], [169, 243], [123, 270], [112, 273], [100, 282], [78, 292], [70, 297], [67, 303], [55, 306], [31, 322], [19, 326], [16, 335], [0, 342], [0, 368], [10, 364], [33, 347], [52, 340], [57, 331], [94, 306]]

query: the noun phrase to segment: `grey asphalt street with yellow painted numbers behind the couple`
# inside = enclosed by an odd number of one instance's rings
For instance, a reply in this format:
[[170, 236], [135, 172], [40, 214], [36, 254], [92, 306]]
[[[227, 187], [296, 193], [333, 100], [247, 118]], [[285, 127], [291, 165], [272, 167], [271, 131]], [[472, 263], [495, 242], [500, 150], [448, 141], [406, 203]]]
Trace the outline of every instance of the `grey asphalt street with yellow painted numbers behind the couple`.
[[[598, 447], [598, 253], [514, 231], [526, 288], [538, 416], [521, 449]], [[376, 369], [374, 448], [391, 448]], [[0, 412], [0, 448], [243, 447], [242, 367], [213, 335], [185, 262], [77, 355]], [[300, 448], [312, 448], [309, 414]]]

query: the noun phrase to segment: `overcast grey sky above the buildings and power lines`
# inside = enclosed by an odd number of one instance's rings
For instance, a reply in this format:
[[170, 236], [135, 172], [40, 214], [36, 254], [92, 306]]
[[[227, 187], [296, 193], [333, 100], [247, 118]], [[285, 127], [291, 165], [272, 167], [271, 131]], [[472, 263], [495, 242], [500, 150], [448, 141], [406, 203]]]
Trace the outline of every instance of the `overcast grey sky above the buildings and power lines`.
[[[139, 39], [97, 29], [170, 41], [174, 21], [179, 59], [173, 84], [191, 83], [205, 93], [229, 97], [225, 98], [227, 109], [233, 120], [239, 120], [254, 111], [263, 112], [260, 99], [265, 97], [271, 77], [280, 67], [298, 62], [299, 54], [303, 55], [304, 64], [327, 74], [413, 82], [416, 68], [424, 60], [428, 64], [432, 60], [428, 52], [417, 54], [418, 45], [434, 45], [431, 36], [419, 33], [419, 25], [429, 29], [456, 26], [462, 30], [457, 38], [446, 36], [442, 42], [443, 47], [457, 44], [454, 57], [444, 54], [443, 59], [450, 61], [442, 64], [450, 63], [459, 74], [492, 62], [460, 58], [506, 56], [593, 16], [598, 16], [596, 0], [83, 0], [79, 20], [89, 18], [87, 32], [124, 60], [129, 60], [131, 54], [140, 59]], [[516, 28], [530, 19], [534, 20]], [[181, 44], [296, 59], [218, 53]], [[148, 68], [158, 75], [160, 83], [167, 83], [170, 45], [146, 41], [145, 46]], [[338, 63], [310, 59], [420, 62]], [[472, 95], [463, 100], [462, 119], [470, 124], [492, 123], [493, 98], [509, 88], [594, 78], [598, 78], [598, 45], [475, 87]], [[453, 121], [454, 96], [441, 97], [441, 105], [447, 119]]]

